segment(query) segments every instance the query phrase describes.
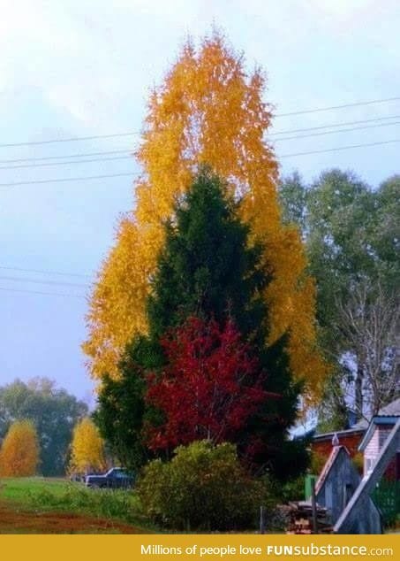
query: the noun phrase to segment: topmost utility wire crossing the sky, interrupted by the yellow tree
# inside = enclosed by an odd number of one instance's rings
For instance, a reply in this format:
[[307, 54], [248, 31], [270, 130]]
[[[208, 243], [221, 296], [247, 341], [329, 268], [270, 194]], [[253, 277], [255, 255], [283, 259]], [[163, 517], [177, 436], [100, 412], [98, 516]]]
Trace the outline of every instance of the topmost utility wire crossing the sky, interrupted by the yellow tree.
[[[289, 117], [291, 115], [305, 115], [306, 113], [316, 113], [321, 111], [335, 111], [337, 109], [344, 109], [346, 107], [358, 107], [362, 105], [371, 105], [371, 104], [384, 104], [391, 101], [397, 101], [400, 99], [398, 97], [387, 97], [385, 99], [373, 99], [364, 102], [356, 102], [353, 104], [342, 104], [342, 105], [331, 105], [330, 107], [320, 107], [316, 109], [306, 109], [303, 111], [291, 111], [288, 113], [276, 113], [275, 117]], [[0, 144], [0, 148], [11, 148], [17, 146], [36, 146], [40, 144], [52, 144], [56, 142], [77, 142], [77, 141], [86, 141], [86, 140], [96, 140], [100, 138], [117, 138], [121, 136], [132, 136], [134, 134], [141, 134], [140, 131], [129, 131], [125, 133], [113, 133], [113, 134], [92, 134], [90, 136], [72, 136], [70, 138], [54, 138], [49, 140], [42, 140], [42, 141], [29, 141], [29, 142], [10, 142], [5, 144]]]

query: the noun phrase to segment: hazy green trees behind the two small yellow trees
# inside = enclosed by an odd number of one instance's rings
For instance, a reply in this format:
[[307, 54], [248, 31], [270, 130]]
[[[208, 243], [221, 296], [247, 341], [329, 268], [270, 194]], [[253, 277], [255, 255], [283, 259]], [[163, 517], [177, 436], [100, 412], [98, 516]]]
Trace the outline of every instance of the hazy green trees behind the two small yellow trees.
[[43, 475], [62, 475], [72, 429], [87, 414], [87, 405], [53, 380], [15, 380], [0, 388], [0, 439], [15, 420], [31, 419], [37, 429]]

